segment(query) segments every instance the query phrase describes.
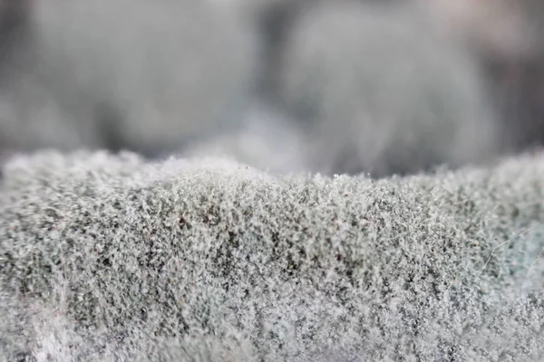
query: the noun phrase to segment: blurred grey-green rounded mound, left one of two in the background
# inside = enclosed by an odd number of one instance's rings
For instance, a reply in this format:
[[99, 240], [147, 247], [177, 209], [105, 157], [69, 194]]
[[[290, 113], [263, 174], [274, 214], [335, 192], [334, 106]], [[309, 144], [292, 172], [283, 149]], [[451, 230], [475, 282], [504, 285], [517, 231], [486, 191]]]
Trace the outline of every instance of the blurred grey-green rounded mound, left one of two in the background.
[[[236, 127], [257, 52], [234, 14], [168, 0], [44, 0], [32, 11], [32, 66], [10, 87], [51, 99], [56, 118], [83, 135], [77, 146], [159, 153]], [[34, 86], [17, 85], [23, 78]], [[35, 109], [20, 92], [19, 108]], [[32, 113], [28, 128], [43, 128]]]

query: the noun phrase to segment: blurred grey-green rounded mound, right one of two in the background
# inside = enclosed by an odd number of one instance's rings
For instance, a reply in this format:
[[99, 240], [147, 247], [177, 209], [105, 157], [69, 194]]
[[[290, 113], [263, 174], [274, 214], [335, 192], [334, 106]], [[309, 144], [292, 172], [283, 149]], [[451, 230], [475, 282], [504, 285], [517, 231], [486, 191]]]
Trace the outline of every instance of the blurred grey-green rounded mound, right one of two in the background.
[[413, 173], [495, 151], [476, 62], [409, 7], [308, 10], [287, 40], [280, 94], [305, 119], [316, 171]]

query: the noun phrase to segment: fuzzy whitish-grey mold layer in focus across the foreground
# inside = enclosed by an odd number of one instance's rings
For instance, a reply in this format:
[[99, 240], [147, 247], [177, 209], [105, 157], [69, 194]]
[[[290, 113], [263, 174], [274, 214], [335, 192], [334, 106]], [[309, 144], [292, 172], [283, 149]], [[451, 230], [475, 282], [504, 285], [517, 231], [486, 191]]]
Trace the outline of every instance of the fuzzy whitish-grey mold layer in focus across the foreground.
[[539, 361], [544, 158], [393, 177], [12, 157], [0, 360]]

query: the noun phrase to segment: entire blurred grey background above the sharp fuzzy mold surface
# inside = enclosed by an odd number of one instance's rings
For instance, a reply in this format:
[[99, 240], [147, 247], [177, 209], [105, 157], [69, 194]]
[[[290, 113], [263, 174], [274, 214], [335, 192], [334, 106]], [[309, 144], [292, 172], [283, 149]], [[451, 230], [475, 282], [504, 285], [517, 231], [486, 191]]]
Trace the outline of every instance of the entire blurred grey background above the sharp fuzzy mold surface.
[[0, 0], [0, 157], [381, 177], [544, 142], [539, 0]]

